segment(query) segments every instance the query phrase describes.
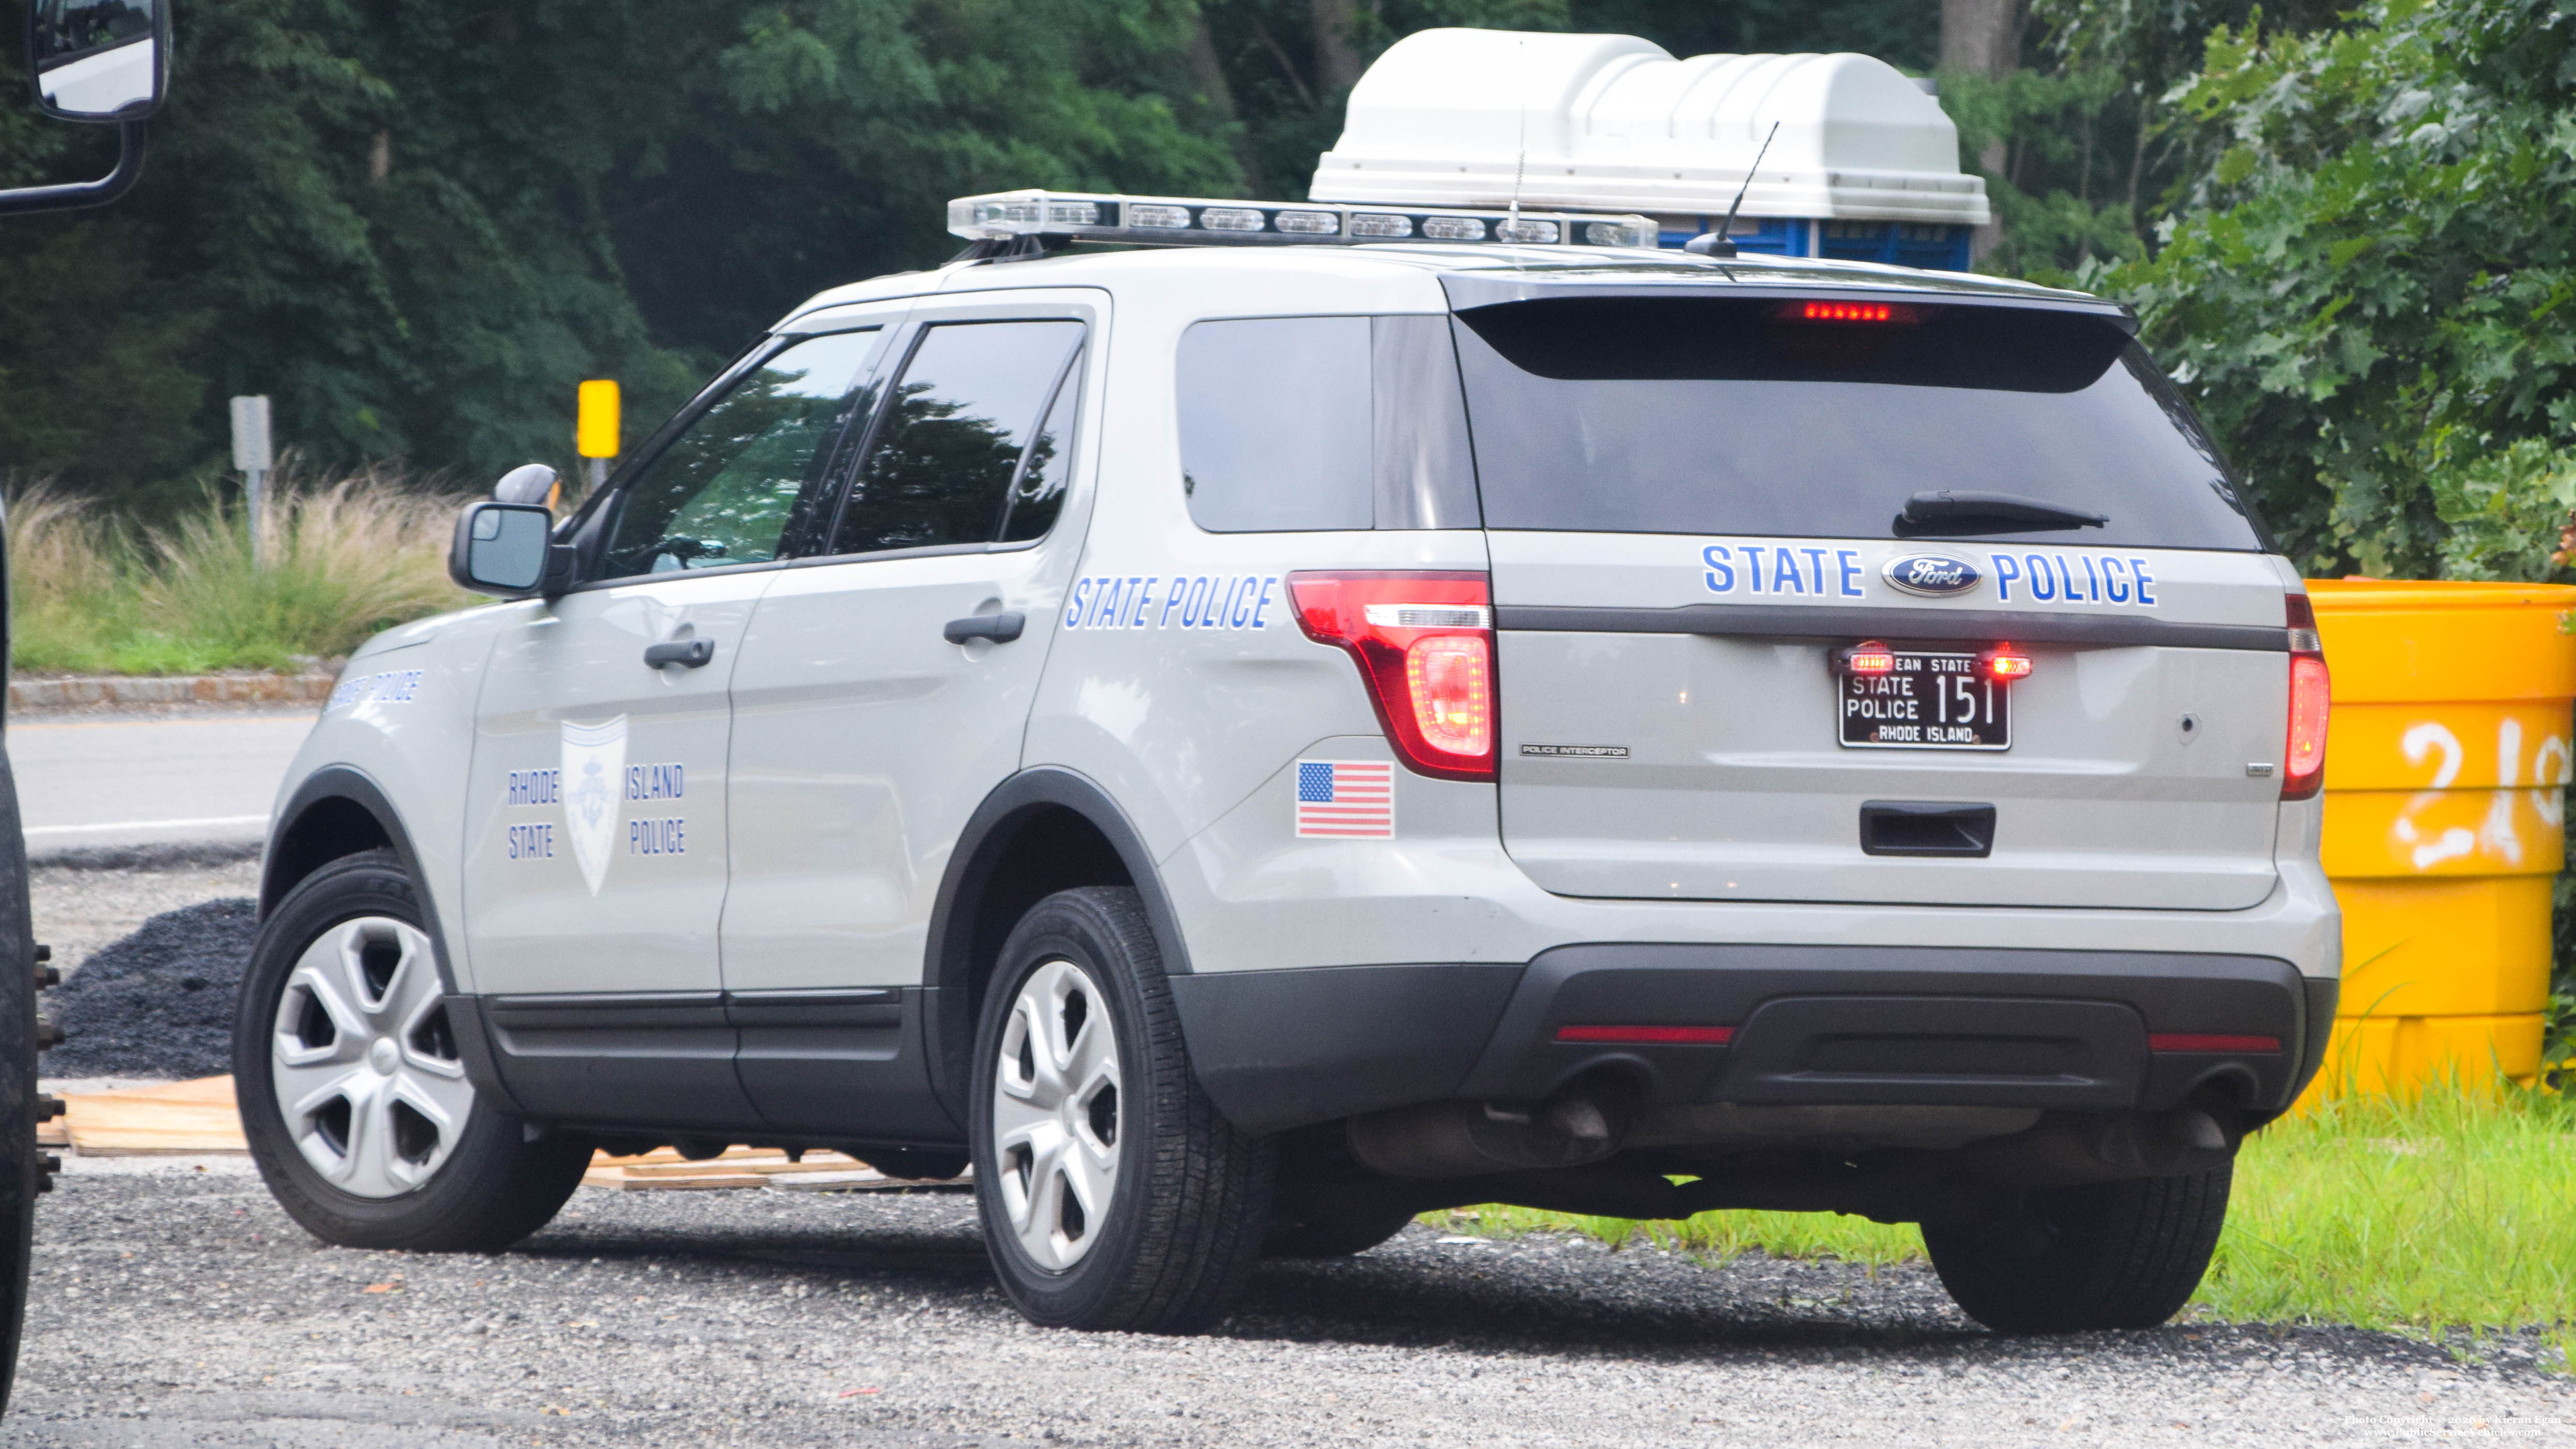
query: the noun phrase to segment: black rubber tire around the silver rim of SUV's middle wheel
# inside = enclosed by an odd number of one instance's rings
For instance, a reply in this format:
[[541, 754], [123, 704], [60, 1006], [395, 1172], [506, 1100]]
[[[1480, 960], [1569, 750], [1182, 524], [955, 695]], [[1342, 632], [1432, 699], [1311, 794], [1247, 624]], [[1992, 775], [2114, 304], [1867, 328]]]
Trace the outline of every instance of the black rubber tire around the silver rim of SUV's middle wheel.
[[[999, 1053], [1023, 986], [1072, 963], [1118, 1032], [1110, 1204], [1077, 1261], [1051, 1269], [1010, 1223], [997, 1150]], [[1092, 1006], [1084, 1004], [1084, 1011]], [[1239, 1132], [1190, 1073], [1162, 952], [1136, 891], [1090, 885], [1038, 901], [1002, 945], [974, 1058], [974, 1174], [1002, 1292], [1043, 1328], [1190, 1333], [1224, 1318], [1260, 1264], [1275, 1145]]]

